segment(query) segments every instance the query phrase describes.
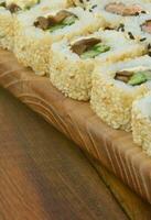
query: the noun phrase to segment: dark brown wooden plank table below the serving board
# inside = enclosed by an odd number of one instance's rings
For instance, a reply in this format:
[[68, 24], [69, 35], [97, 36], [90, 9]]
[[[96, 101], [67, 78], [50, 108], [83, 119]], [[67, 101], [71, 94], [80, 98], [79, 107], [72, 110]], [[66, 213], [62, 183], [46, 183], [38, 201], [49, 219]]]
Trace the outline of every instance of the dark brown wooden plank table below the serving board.
[[151, 206], [0, 88], [0, 220], [150, 220]]

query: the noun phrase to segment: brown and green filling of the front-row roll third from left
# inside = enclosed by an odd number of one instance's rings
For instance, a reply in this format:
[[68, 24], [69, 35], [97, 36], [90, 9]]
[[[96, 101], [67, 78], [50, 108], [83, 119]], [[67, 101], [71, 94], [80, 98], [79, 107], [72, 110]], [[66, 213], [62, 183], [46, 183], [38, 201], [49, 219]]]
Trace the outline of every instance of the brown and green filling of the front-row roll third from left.
[[72, 51], [80, 58], [95, 58], [101, 53], [108, 52], [110, 46], [101, 43], [100, 38], [83, 38], [71, 46]]

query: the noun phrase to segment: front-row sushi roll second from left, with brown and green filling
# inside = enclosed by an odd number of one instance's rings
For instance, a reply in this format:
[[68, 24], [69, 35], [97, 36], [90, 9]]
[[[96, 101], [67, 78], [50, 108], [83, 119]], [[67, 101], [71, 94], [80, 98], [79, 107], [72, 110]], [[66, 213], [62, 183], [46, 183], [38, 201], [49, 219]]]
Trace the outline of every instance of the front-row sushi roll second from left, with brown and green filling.
[[[37, 15], [39, 14], [39, 15]], [[98, 30], [103, 21], [82, 8], [68, 8], [40, 14], [18, 15], [15, 26], [14, 54], [24, 66], [30, 66], [35, 74], [48, 73], [48, 56], [52, 43], [62, 38], [88, 34]]]

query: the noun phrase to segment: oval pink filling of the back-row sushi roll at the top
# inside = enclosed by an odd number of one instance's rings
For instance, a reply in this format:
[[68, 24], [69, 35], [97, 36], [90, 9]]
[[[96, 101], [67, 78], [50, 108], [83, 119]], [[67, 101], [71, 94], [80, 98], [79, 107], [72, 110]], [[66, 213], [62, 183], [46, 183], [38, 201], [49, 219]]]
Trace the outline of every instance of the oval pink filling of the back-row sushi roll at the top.
[[105, 10], [107, 12], [115, 13], [122, 16], [139, 15], [141, 12], [144, 13], [142, 8], [138, 4], [126, 6], [125, 3], [121, 3], [121, 2], [108, 3], [105, 7]]

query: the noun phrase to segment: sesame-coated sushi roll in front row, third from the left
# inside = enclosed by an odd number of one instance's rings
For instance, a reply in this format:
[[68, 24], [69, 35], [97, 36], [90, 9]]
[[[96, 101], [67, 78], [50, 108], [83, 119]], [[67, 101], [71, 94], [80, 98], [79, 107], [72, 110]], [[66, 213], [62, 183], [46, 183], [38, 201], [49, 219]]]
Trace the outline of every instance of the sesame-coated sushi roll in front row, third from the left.
[[116, 31], [64, 40], [54, 43], [50, 52], [51, 81], [65, 96], [86, 101], [90, 98], [91, 73], [96, 63], [101, 66], [142, 53], [143, 46], [129, 42]]

